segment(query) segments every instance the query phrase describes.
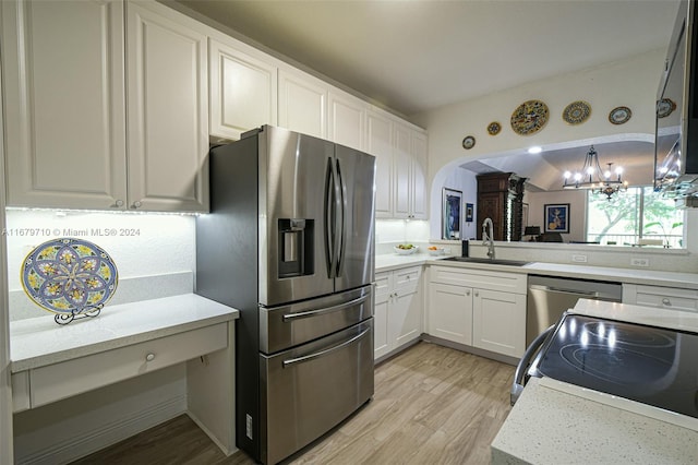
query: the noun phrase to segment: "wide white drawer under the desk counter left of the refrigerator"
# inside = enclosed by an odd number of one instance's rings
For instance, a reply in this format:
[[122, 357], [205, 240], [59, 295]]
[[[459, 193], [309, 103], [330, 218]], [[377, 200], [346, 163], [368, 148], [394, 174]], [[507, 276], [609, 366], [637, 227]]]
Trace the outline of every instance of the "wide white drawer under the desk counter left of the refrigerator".
[[155, 371], [228, 345], [228, 324], [160, 337], [29, 371], [32, 408]]

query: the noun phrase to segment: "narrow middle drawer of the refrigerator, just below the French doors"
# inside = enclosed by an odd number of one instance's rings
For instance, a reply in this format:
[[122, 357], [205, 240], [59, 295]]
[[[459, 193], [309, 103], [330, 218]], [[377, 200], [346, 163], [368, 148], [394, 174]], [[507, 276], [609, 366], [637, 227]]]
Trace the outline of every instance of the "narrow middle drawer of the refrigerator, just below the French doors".
[[274, 354], [373, 315], [373, 287], [276, 308], [260, 308], [260, 351]]

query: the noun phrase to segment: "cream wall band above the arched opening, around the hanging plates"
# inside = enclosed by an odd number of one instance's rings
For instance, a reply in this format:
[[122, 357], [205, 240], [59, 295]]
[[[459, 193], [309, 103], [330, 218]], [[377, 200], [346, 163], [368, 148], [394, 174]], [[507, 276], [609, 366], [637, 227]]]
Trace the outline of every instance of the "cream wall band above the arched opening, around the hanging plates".
[[[455, 160], [460, 164], [520, 152], [531, 145], [546, 147], [617, 134], [653, 134], [654, 99], [664, 55], [665, 50], [655, 50], [414, 115], [413, 120], [429, 131], [429, 178]], [[521, 103], [534, 98], [547, 105], [549, 122], [535, 134], [519, 135], [509, 124], [512, 114]], [[569, 126], [562, 112], [575, 100], [588, 102], [591, 116], [582, 124]], [[609, 121], [609, 112], [617, 106], [633, 110], [625, 124]], [[492, 121], [502, 124], [497, 135], [488, 134]], [[466, 135], [476, 138], [476, 145], [468, 151], [461, 145]]]

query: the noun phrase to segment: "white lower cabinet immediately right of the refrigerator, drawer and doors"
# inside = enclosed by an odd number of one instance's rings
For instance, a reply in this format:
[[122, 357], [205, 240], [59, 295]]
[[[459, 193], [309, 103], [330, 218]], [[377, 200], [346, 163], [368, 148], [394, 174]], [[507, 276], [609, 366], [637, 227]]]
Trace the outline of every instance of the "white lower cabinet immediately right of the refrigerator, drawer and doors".
[[374, 358], [420, 337], [423, 306], [421, 266], [375, 275]]

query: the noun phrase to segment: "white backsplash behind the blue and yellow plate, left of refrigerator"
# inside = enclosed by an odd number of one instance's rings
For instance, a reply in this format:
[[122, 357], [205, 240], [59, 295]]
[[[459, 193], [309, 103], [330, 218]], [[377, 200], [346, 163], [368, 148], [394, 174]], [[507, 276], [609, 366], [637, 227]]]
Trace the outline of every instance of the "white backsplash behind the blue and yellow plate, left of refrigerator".
[[20, 281], [25, 257], [59, 237], [96, 243], [115, 261], [119, 285], [107, 303], [188, 294], [194, 286], [195, 218], [170, 214], [7, 210], [10, 320], [49, 314], [25, 294]]

